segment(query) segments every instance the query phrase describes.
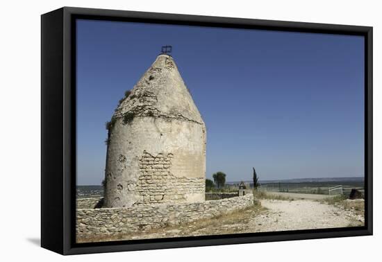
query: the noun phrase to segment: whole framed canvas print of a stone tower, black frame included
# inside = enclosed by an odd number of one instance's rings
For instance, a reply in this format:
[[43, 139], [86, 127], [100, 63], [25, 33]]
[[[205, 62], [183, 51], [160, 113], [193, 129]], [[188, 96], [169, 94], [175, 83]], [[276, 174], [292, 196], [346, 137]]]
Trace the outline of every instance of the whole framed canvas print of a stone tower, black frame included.
[[41, 243], [60, 254], [372, 234], [372, 28], [42, 15]]

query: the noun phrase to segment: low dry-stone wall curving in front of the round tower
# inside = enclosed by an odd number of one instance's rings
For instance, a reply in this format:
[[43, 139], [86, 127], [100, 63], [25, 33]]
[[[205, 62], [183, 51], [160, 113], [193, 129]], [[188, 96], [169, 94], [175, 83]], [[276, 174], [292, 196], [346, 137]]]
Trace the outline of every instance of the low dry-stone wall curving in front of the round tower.
[[77, 209], [77, 238], [128, 234], [142, 229], [165, 227], [211, 218], [254, 204], [253, 195], [185, 204], [156, 204], [138, 207]]

